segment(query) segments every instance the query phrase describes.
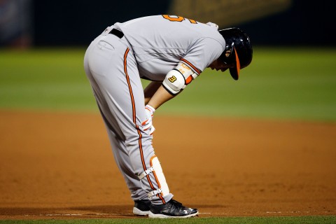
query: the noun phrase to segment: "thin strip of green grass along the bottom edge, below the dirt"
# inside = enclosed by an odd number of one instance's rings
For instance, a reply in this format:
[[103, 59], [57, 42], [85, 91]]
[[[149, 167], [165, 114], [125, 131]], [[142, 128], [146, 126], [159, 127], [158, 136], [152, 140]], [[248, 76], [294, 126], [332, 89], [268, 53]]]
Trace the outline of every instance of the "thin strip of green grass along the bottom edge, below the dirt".
[[35, 221], [0, 221], [1, 223], [18, 224], [160, 224], [160, 223], [196, 223], [196, 224], [332, 224], [336, 216], [302, 216], [302, 217], [232, 217], [232, 218], [188, 218], [188, 219], [148, 219], [148, 218], [123, 218], [123, 219], [90, 219], [90, 220], [35, 220]]

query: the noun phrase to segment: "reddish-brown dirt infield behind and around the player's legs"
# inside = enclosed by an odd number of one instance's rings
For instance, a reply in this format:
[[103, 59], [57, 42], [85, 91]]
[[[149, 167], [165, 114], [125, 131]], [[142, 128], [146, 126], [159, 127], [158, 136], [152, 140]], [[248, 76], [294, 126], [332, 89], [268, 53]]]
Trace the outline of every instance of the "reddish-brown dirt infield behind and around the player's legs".
[[[209, 216], [336, 215], [336, 124], [156, 116], [174, 198]], [[132, 218], [98, 114], [0, 112], [0, 219]]]

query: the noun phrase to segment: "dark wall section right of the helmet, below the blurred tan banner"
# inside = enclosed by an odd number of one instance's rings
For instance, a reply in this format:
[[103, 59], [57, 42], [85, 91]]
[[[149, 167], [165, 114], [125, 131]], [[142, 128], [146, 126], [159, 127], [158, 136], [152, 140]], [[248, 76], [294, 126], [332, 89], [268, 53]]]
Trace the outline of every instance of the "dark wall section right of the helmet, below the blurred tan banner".
[[336, 1], [294, 0], [283, 13], [244, 25], [259, 45], [336, 45]]

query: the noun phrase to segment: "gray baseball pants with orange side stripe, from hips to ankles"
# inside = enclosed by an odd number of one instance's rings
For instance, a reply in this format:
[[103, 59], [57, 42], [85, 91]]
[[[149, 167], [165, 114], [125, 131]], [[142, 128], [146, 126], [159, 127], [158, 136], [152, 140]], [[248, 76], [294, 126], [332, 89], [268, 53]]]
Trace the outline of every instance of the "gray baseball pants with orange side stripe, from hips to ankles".
[[[85, 71], [132, 198], [144, 197], [144, 193], [158, 189], [159, 185], [153, 174], [141, 181], [137, 177], [150, 167], [154, 149], [153, 137], [141, 126], [146, 118], [144, 90], [132, 50], [116, 36], [99, 36], [87, 49]], [[172, 196], [158, 194], [152, 200], [154, 204], [162, 204]]]

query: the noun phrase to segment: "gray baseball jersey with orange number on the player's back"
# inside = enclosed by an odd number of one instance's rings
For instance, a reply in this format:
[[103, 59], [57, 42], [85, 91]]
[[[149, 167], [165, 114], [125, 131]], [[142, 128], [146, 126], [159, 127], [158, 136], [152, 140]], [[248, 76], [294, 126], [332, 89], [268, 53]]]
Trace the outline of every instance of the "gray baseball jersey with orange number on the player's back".
[[174, 15], [154, 15], [115, 26], [137, 59], [141, 78], [164, 80], [179, 62], [200, 74], [225, 50], [218, 27]]

